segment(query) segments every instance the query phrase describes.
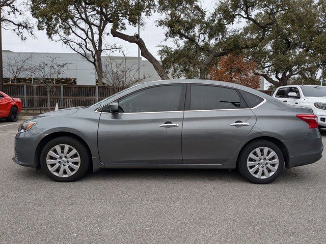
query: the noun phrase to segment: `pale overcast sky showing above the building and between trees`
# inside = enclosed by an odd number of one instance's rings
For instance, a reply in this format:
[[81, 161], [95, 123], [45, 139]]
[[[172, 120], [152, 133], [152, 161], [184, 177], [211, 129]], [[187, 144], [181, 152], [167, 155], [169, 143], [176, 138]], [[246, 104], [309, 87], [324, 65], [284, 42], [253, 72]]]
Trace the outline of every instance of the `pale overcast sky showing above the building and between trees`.
[[[212, 1], [203, 0], [203, 6], [206, 9], [212, 9], [214, 4]], [[32, 22], [36, 22], [32, 16], [29, 16]], [[160, 44], [171, 44], [171, 42], [164, 42], [164, 31], [161, 28], [155, 26], [155, 20], [159, 18], [158, 14], [154, 14], [150, 18], [146, 19], [146, 25], [141, 29], [140, 35], [145, 41], [145, 44], [150, 50], [150, 52], [156, 57], [158, 47]], [[125, 34], [133, 35], [137, 32], [137, 27], [128, 26], [127, 30], [124, 31]], [[6, 31], [3, 29], [2, 38], [3, 38], [3, 50], [11, 50], [14, 52], [73, 52], [69, 47], [62, 45], [60, 42], [50, 41], [45, 31], [35, 30], [36, 38], [29, 37], [28, 40], [22, 42], [14, 33], [11, 31]], [[127, 56], [137, 56], [138, 55], [138, 46], [134, 43], [128, 43], [118, 38], [113, 38], [112, 36], [108, 37], [108, 43], [117, 43], [120, 46], [123, 46], [123, 49], [126, 51]], [[119, 55], [119, 54], [117, 54]]]

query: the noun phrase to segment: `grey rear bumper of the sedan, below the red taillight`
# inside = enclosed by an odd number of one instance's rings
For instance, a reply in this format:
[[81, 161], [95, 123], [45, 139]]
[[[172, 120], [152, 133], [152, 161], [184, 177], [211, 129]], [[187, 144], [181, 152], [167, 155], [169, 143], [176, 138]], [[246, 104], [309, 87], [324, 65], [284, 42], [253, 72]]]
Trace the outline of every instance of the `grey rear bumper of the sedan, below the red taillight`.
[[303, 140], [283, 141], [283, 143], [289, 153], [286, 165], [288, 169], [315, 163], [322, 157], [323, 145], [318, 129], [310, 129]]

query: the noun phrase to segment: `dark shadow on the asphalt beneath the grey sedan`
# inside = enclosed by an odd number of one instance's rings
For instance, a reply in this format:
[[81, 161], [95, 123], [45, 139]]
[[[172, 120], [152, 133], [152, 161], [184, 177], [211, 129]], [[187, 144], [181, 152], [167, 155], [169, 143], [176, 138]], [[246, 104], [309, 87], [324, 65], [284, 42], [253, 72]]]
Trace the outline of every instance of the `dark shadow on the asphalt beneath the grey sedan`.
[[[304, 166], [305, 167], [305, 166]], [[304, 167], [283, 170], [273, 184], [297, 184], [310, 181], [314, 178], [313, 172]], [[52, 181], [42, 170], [33, 168], [16, 168], [19, 178], [37, 181]], [[131, 180], [157, 180], [157, 181], [216, 181], [219, 184], [247, 183], [236, 169], [102, 169], [98, 172], [88, 172], [78, 181], [131, 181]], [[77, 182], [78, 182], [77, 181]], [[53, 181], [52, 181], [53, 182]]]

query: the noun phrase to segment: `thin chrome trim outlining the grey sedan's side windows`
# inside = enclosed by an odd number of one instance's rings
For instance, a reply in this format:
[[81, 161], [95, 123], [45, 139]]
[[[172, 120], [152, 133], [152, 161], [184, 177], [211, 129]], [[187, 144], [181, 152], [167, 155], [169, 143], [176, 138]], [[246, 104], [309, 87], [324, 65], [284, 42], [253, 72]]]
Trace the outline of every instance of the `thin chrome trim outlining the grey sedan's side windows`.
[[[182, 85], [182, 84], [194, 84], [194, 85], [212, 85], [212, 86], [223, 86], [223, 87], [226, 87], [226, 88], [230, 88], [230, 89], [238, 89], [238, 90], [243, 90], [241, 88], [236, 88], [236, 87], [230, 87], [230, 86], [226, 86], [226, 85], [219, 85], [219, 84], [207, 84], [207, 83], [175, 83], [175, 82], [170, 82], [170, 83], [165, 83], [165, 84], [153, 84], [153, 85], [149, 85], [147, 87], [143, 87], [143, 88], [148, 88], [148, 87], [152, 87], [152, 86], [160, 86], [160, 85], [170, 85], [170, 84], [175, 84], [175, 85]], [[140, 89], [137, 89], [137, 90], [134, 90], [132, 93], [135, 93], [137, 92], [138, 90], [141, 90], [143, 88], [140, 88]], [[244, 92], [247, 92], [247, 93], [251, 93], [251, 92], [248, 92], [247, 90], [243, 90]], [[101, 111], [98, 111], [99, 109], [103, 108], [104, 106], [106, 106], [107, 104], [110, 104], [110, 103], [106, 103], [104, 104], [102, 107], [99, 107], [98, 109], [95, 110], [96, 113], [106, 113], [106, 114], [144, 114], [144, 113], [172, 113], [172, 112], [199, 112], [199, 111], [227, 111], [227, 110], [248, 110], [248, 109], [255, 109], [255, 108], [258, 108], [259, 106], [263, 105], [265, 102], [267, 102], [267, 100], [257, 94], [254, 94], [254, 93], [251, 93], [255, 96], [258, 96], [260, 98], [263, 99], [263, 101], [256, 105], [255, 107], [253, 108], [230, 108], [230, 109], [207, 109], [207, 110], [178, 110], [178, 111], [161, 111], [161, 112], [139, 112], [139, 113], [110, 113], [110, 112], [101, 112]], [[128, 95], [128, 94], [127, 94]], [[115, 100], [118, 100], [120, 99], [121, 97], [124, 97], [124, 96], [127, 96], [127, 95], [122, 95], [120, 97], [118, 97], [117, 99]]]

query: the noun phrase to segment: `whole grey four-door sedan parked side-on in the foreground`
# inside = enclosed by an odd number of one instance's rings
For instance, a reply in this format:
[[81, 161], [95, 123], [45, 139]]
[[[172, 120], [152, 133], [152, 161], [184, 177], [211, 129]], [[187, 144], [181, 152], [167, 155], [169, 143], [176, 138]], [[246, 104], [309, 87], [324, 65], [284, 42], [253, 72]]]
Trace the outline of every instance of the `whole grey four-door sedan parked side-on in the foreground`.
[[128, 88], [90, 107], [26, 120], [14, 162], [72, 181], [89, 169], [233, 169], [255, 183], [284, 166], [311, 164], [323, 145], [311, 109], [257, 90], [208, 80], [164, 80]]

